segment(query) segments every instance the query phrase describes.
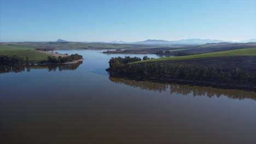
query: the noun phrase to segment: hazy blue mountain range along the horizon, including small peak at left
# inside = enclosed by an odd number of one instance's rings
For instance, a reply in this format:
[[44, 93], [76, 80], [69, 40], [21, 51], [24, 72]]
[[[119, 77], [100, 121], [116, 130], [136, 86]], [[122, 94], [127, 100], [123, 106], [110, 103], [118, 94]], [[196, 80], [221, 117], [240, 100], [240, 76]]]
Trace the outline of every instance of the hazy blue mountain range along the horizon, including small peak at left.
[[[67, 40], [58, 39], [57, 42], [68, 42]], [[181, 39], [181, 40], [156, 40], [148, 39], [145, 41], [136, 42], [125, 42], [125, 41], [110, 41], [110, 44], [140, 44], [140, 45], [201, 45], [207, 43], [250, 43], [256, 42], [256, 39], [242, 40], [242, 41], [225, 41], [225, 40], [215, 40], [215, 39]], [[107, 42], [85, 42], [85, 43], [107, 43]]]

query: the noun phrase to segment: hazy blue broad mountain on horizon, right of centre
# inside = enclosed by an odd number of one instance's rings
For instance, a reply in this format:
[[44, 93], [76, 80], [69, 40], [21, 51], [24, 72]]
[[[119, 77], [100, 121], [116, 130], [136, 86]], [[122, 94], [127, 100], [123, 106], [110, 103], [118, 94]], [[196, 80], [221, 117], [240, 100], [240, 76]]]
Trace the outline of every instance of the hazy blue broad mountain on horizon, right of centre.
[[224, 40], [212, 40], [212, 39], [181, 39], [176, 41], [167, 41], [167, 40], [154, 40], [148, 39], [145, 41], [137, 41], [135, 44], [144, 44], [144, 45], [200, 45], [207, 43], [234, 43], [233, 41], [224, 41]]

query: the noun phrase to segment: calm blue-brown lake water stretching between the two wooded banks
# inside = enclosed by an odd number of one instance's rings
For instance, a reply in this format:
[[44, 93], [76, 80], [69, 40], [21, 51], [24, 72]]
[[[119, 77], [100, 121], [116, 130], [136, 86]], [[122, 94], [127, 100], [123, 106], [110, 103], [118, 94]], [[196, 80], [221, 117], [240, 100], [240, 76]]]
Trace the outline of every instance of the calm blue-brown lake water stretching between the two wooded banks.
[[0, 143], [256, 143], [254, 92], [109, 78], [126, 55], [59, 52], [85, 60], [0, 74]]

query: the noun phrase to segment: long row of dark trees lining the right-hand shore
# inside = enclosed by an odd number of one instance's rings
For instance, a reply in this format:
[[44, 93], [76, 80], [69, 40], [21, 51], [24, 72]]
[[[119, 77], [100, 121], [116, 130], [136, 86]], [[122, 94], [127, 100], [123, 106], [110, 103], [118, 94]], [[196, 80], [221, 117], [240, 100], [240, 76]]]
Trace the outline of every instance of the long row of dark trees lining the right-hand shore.
[[242, 86], [255, 86], [256, 73], [239, 68], [224, 71], [214, 67], [195, 65], [164, 65], [162, 63], [124, 63], [124, 58], [118, 61], [110, 59], [110, 76], [155, 77], [156, 79], [177, 79], [213, 83], [229, 83]]

